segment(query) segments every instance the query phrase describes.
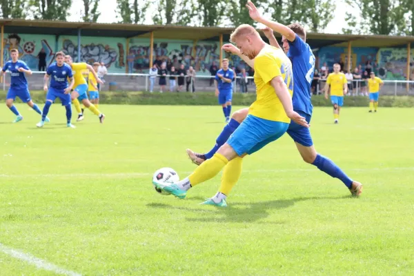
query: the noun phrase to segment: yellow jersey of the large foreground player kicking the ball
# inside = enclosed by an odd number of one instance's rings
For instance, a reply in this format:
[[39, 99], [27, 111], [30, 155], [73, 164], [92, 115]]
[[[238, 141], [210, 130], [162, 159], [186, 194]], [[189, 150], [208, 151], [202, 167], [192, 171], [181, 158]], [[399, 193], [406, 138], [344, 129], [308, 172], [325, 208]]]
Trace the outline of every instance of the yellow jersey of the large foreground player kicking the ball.
[[292, 63], [283, 50], [265, 46], [255, 57], [256, 101], [248, 109], [248, 114], [267, 119], [290, 123], [289, 117], [270, 84], [274, 77], [281, 76], [290, 96], [293, 95]]

